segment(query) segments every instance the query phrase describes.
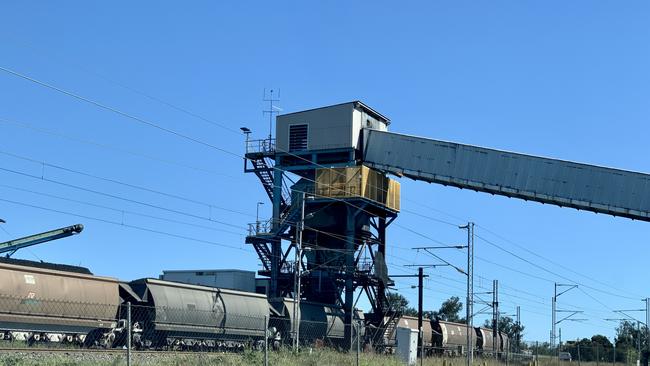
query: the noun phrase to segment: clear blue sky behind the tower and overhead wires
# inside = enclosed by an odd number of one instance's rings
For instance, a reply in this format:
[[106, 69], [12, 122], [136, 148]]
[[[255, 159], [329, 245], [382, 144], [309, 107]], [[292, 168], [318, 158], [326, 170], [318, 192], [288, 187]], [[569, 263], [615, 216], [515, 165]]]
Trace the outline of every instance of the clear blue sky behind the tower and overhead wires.
[[[20, 2], [0, 15], [0, 66], [237, 154], [242, 136], [154, 98], [235, 131], [248, 126], [259, 137], [268, 133], [264, 88], [281, 89], [284, 111], [359, 99], [391, 117], [395, 132], [650, 172], [649, 18], [643, 1]], [[163, 269], [258, 268], [244, 228], [255, 203], [268, 199], [240, 158], [7, 73], [0, 73], [0, 136], [0, 167], [32, 176], [0, 171], [0, 199], [115, 223], [0, 201], [10, 233], [0, 231], [0, 240], [86, 226], [78, 237], [18, 257], [122, 279]], [[602, 319], [615, 317], [613, 309], [641, 308], [650, 296], [647, 223], [401, 183], [404, 209], [454, 224], [473, 220], [482, 238], [547, 270], [476, 241], [477, 287], [499, 279], [502, 309], [512, 314], [521, 306], [526, 339], [548, 339], [553, 281], [581, 284], [559, 307], [589, 319], [562, 323], [565, 339], [612, 336], [615, 324]], [[269, 215], [268, 202], [262, 213]], [[398, 222], [442, 242], [465, 238], [410, 212]], [[400, 227], [389, 240], [395, 274], [423, 258], [408, 248], [431, 244]], [[462, 253], [445, 256], [463, 261]], [[425, 308], [464, 296], [457, 273], [429, 274]], [[397, 287], [415, 303], [411, 284], [400, 279]]]

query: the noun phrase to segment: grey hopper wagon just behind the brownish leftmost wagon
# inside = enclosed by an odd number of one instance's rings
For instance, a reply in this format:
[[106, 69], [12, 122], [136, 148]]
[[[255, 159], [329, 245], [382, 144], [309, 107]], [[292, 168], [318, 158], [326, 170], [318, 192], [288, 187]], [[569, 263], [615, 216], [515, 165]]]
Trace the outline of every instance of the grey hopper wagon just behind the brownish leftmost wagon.
[[150, 278], [123, 287], [136, 304], [140, 347], [239, 350], [267, 335], [265, 295]]

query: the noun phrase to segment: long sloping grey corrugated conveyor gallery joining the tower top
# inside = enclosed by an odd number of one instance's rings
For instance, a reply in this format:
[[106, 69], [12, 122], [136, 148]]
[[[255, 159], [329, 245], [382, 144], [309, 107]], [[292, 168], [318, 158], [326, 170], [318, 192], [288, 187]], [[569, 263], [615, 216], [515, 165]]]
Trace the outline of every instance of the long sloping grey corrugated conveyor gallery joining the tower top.
[[416, 180], [650, 221], [650, 175], [364, 130], [364, 164]]

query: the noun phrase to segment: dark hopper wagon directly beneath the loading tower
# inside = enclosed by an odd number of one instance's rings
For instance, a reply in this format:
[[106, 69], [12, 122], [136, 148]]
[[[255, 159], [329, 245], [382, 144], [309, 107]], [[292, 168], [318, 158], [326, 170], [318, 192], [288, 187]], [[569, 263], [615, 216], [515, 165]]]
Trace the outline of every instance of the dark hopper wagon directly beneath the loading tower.
[[[274, 316], [271, 317], [270, 326], [276, 329], [280, 338], [285, 344], [291, 343], [294, 333], [294, 300], [290, 298], [275, 299], [270, 301], [274, 309]], [[321, 304], [316, 302], [301, 301], [299, 337], [303, 344], [323, 343], [333, 346], [343, 346], [345, 337], [345, 314], [343, 309], [337, 306]], [[363, 314], [357, 312], [355, 320], [363, 320]], [[353, 336], [356, 336], [357, 328], [353, 328]], [[363, 337], [365, 329], [362, 326], [359, 334]]]

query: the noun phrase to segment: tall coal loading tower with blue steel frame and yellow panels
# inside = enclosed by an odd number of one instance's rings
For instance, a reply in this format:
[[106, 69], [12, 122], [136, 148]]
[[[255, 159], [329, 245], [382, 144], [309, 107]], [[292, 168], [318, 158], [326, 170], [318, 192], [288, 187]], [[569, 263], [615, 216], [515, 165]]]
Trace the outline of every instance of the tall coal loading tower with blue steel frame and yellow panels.
[[[367, 296], [375, 344], [400, 316], [386, 297], [392, 281], [385, 263], [400, 185], [364, 165], [362, 146], [364, 129], [387, 131], [389, 124], [355, 101], [277, 116], [275, 139], [253, 140], [243, 129], [244, 170], [273, 204], [272, 217], [250, 224], [246, 238], [262, 263], [259, 274], [269, 278], [269, 298], [297, 295], [342, 309], [350, 325], [359, 296]], [[344, 339], [350, 345], [350, 326]]]

